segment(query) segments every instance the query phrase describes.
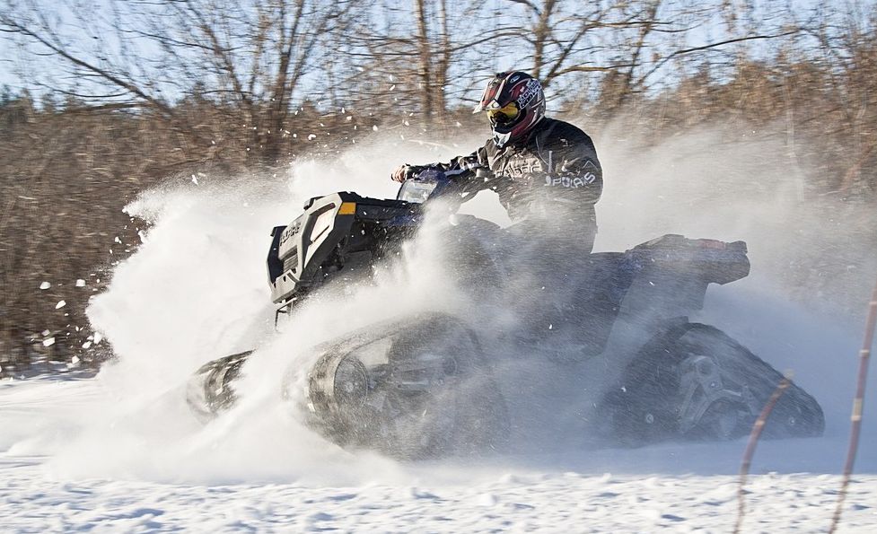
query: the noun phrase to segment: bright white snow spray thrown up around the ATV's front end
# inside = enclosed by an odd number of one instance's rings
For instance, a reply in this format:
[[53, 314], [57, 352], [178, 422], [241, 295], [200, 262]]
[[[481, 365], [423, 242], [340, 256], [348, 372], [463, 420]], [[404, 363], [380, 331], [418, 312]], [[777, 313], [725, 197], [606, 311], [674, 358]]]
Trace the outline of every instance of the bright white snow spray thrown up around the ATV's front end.
[[[401, 163], [398, 152], [363, 145], [333, 162], [297, 162], [286, 179], [202, 179], [197, 188], [168, 182], [127, 206], [150, 224], [147, 239], [88, 310], [117, 355], [98, 376], [111, 400], [84, 411], [82, 432], [57, 451], [54, 468], [159, 480], [367, 479], [379, 461], [373, 455], [357, 460], [278, 412], [279, 380], [291, 363], [306, 371], [308, 349], [351, 328], [415, 315], [423, 302], [456, 305], [453, 292], [436, 283], [442, 276], [429, 236], [411, 250], [416, 267], [404, 276], [379, 273], [376, 285], [356, 294], [308, 302], [279, 332], [265, 258], [271, 229], [300, 214], [310, 197], [343, 190], [394, 197], [398, 184], [389, 175]], [[444, 152], [415, 145], [407, 157], [453, 155]], [[240, 406], [202, 428], [185, 405], [186, 381], [199, 365], [252, 348]], [[384, 477], [393, 472], [381, 469]]]

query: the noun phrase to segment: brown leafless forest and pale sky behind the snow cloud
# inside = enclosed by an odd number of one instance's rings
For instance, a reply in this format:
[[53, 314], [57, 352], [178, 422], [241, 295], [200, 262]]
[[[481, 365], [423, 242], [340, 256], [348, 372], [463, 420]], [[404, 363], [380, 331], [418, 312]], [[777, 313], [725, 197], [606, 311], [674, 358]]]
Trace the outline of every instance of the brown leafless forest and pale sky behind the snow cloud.
[[875, 26], [873, 1], [0, 0], [0, 372], [110, 355], [84, 309], [139, 242], [139, 192], [487, 133], [470, 109], [509, 68], [643, 150], [705, 125], [779, 143], [795, 200], [877, 249]]

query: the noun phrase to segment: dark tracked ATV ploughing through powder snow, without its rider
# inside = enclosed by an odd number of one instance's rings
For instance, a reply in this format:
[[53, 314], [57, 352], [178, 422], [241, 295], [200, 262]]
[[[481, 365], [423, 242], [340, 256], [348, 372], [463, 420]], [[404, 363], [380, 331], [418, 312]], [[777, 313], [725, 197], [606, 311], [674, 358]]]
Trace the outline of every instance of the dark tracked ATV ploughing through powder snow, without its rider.
[[[430, 206], [450, 203], [453, 212], [472, 196], [428, 171], [403, 183], [396, 199], [349, 192], [312, 198], [303, 214], [272, 232], [267, 271], [278, 317], [319, 298], [324, 285], [367, 278], [376, 265], [395, 261], [400, 245], [417, 239]], [[504, 295], [521, 243], [464, 215], [443, 235], [449, 261], [466, 266], [460, 284], [482, 301], [489, 300], [485, 287]], [[526, 422], [558, 415], [557, 425], [603, 443], [733, 439], [748, 432], [782, 377], [688, 315], [702, 307], [707, 285], [728, 284], [749, 270], [742, 241], [671, 234], [625, 252], [590, 254], [574, 265], [568, 302], [553, 302], [580, 325], [583, 337], [572, 346], [558, 351], [557, 344], [542, 343], [544, 332], [521, 331], [527, 321], [504, 331], [486, 328], [477, 311], [425, 312], [314, 347], [303, 400], [291, 378], [296, 369], [278, 396], [332, 442], [407, 458], [514, 450], [544, 430]], [[492, 305], [526, 307], [503, 296]], [[251, 355], [197, 370], [188, 400], [198, 416], [208, 420], [233, 405]], [[579, 396], [585, 390], [600, 393]], [[816, 436], [823, 427], [819, 404], [793, 385], [765, 433]]]

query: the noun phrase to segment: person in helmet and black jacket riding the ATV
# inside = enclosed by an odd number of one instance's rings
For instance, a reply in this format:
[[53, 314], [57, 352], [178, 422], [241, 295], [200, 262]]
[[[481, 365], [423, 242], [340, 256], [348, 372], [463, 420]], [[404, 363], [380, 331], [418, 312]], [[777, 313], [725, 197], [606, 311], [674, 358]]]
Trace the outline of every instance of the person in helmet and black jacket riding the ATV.
[[[449, 163], [402, 165], [392, 179], [401, 182], [437, 169], [451, 179], [484, 180], [483, 189], [496, 191], [515, 223], [512, 232], [562, 237], [566, 247], [591, 252], [597, 234], [594, 204], [603, 187], [591, 137], [546, 117], [541, 83], [522, 72], [496, 74], [474, 113], [482, 111], [493, 131], [484, 146]], [[485, 179], [478, 170], [492, 176]]]

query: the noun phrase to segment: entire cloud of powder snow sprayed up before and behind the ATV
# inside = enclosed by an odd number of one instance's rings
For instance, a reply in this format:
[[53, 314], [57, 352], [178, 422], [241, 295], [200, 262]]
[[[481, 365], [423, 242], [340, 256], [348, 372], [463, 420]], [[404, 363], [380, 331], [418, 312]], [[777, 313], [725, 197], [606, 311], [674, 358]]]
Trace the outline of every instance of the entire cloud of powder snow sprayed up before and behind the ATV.
[[[752, 275], [712, 287], [705, 310], [692, 319], [723, 328], [778, 369], [793, 368], [795, 380], [826, 408], [828, 432], [840, 436], [851, 396], [847, 384], [854, 380], [859, 324], [838, 324], [828, 304], [823, 311], [812, 300], [801, 303], [802, 293], [808, 293], [801, 285], [819, 278], [805, 271], [832, 261], [838, 241], [820, 215], [802, 203], [800, 177], [770, 164], [775, 146], [731, 142], [728, 135], [698, 132], [648, 151], [611, 130], [597, 137], [606, 189], [597, 205], [596, 249], [629, 249], [662, 233], [747, 241]], [[110, 288], [88, 310], [92, 327], [110, 340], [117, 356], [98, 376], [106, 395], [83, 408], [79, 428], [55, 443], [50, 467], [61, 477], [206, 483], [294, 480], [341, 485], [425, 476], [374, 454], [342, 451], [312, 433], [277, 401], [281, 381], [297, 365], [301, 371], [292, 380], [303, 384], [312, 347], [373, 321], [422, 311], [466, 311], [480, 314], [482, 326], [499, 331], [514, 328], [508, 310], [472, 302], [471, 295], [458, 291], [443, 265], [441, 247], [434, 241], [438, 238], [427, 225], [400, 267], [379, 272], [373, 285], [305, 302], [276, 331], [265, 257], [271, 228], [289, 223], [309, 197], [342, 190], [394, 197], [396, 184], [389, 174], [399, 163], [447, 161], [482, 142], [469, 141], [459, 148], [356, 144], [332, 162], [296, 162], [282, 179], [213, 182], [202, 177], [197, 186], [182, 179], [146, 191], [127, 211], [150, 223], [147, 240], [116, 267]], [[462, 211], [509, 223], [489, 192]], [[862, 271], [877, 268], [865, 251], [855, 249], [855, 236], [844, 239], [850, 245], [845, 261], [856, 262]], [[797, 282], [790, 284], [790, 276]], [[855, 280], [846, 280], [843, 298], [857, 293], [850, 287]], [[820, 291], [829, 287], [836, 286], [824, 285]], [[488, 337], [498, 336], [496, 331]], [[497, 342], [488, 350], [502, 346]], [[209, 360], [253, 348], [238, 389], [241, 402], [200, 425], [184, 399], [191, 373]], [[519, 393], [512, 407], [540, 402], [545, 390], [599, 391], [604, 382], [597, 372], [587, 383], [546, 381], [540, 377], [543, 364], [548, 363], [530, 359], [503, 370]], [[873, 398], [866, 412], [877, 411]], [[576, 416], [574, 407], [545, 404], [540, 409], [541, 416], [522, 424], [529, 425], [520, 431], [527, 445], [522, 449], [539, 455], [551, 442], [586, 442], [558, 428], [565, 417]], [[865, 437], [873, 443], [873, 433]], [[735, 451], [738, 445], [724, 450]], [[863, 450], [868, 450], [866, 444]], [[641, 464], [628, 467], [689, 472], [712, 465], [708, 456], [699, 467], [656, 456], [644, 453]], [[736, 455], [730, 458], [735, 469]], [[624, 461], [613, 459], [585, 453], [572, 463], [601, 470]], [[550, 461], [566, 467], [572, 460]]]

